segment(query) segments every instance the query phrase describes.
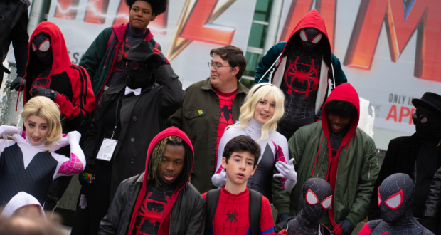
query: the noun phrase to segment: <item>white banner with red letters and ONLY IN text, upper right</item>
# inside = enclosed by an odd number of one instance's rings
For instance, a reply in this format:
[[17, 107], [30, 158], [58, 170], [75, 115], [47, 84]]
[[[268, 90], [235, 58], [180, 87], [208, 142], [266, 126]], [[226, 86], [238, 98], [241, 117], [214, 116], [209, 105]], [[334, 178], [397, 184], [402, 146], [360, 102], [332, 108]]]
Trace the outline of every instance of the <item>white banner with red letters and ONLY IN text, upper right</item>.
[[311, 9], [324, 18], [348, 82], [375, 108], [374, 127], [412, 134], [413, 98], [441, 94], [439, 0], [285, 0], [277, 41]]

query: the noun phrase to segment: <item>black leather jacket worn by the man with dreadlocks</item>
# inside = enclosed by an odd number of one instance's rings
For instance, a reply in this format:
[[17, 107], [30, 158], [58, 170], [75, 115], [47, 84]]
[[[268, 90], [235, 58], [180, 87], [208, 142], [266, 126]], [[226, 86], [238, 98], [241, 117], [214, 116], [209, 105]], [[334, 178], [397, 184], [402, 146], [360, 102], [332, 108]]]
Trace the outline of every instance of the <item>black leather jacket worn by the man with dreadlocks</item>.
[[[98, 235], [127, 235], [134, 204], [142, 187], [144, 173], [124, 180], [117, 189]], [[193, 185], [187, 183], [171, 208], [170, 234], [203, 234], [205, 201]]]

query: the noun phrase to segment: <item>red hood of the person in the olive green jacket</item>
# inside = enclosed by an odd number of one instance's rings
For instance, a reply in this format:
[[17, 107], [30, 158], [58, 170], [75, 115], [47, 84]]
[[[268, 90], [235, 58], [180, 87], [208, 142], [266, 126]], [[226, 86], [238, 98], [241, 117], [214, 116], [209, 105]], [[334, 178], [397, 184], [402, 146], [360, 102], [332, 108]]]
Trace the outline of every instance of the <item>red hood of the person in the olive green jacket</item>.
[[[341, 145], [340, 145], [341, 147], [349, 143], [349, 141], [354, 136], [354, 133], [357, 129], [358, 120], [360, 119], [360, 100], [358, 98], [357, 91], [350, 83], [343, 83], [337, 86], [336, 88], [334, 88], [334, 90], [332, 90], [331, 95], [328, 96], [322, 108], [322, 127], [324, 131], [324, 135], [326, 136], [326, 138], [328, 138], [328, 143], [329, 143], [329, 125], [328, 125], [328, 114], [326, 112], [325, 107], [332, 100], [347, 101], [353, 104], [357, 109], [357, 117], [351, 120], [349, 131], [348, 133], [346, 133], [346, 136], [341, 141]], [[329, 145], [329, 147], [330, 146], [331, 145]], [[329, 152], [331, 152], [330, 149]]]

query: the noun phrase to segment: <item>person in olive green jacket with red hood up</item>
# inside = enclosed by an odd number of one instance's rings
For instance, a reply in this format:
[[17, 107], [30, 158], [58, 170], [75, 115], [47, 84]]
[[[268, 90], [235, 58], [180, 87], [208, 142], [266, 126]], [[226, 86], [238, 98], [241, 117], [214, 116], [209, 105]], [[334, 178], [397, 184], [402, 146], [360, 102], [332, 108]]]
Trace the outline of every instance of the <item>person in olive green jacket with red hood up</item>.
[[300, 127], [292, 135], [289, 158], [294, 158], [297, 185], [289, 194], [280, 180], [272, 181], [272, 199], [279, 214], [297, 216], [302, 209], [302, 185], [309, 178], [320, 178], [332, 187], [332, 204], [321, 221], [333, 234], [349, 235], [366, 218], [378, 164], [375, 143], [357, 128], [359, 115], [358, 94], [344, 83], [324, 103], [322, 121]]

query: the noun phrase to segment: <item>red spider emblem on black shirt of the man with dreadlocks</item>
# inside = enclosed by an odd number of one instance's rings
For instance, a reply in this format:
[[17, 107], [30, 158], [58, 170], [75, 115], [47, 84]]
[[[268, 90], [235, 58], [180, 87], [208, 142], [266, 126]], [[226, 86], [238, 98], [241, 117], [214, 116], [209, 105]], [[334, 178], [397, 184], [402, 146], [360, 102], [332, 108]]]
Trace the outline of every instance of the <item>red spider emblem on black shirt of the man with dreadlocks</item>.
[[148, 193], [139, 206], [134, 235], [157, 234], [164, 210], [169, 204], [173, 189], [167, 186], [149, 186]]

